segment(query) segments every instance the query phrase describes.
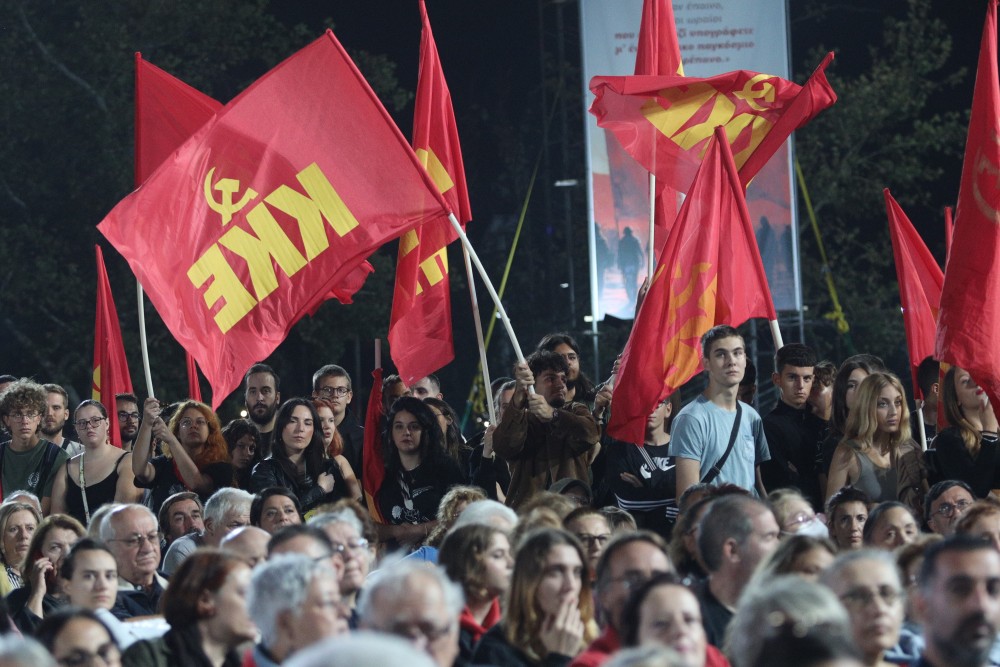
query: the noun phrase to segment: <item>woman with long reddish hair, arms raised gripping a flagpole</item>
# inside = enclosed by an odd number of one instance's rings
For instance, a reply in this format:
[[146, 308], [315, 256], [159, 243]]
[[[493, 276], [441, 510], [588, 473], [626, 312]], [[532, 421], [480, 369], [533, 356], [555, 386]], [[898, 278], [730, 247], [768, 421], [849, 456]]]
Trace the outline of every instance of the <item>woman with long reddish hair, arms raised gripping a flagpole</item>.
[[[222, 487], [232, 486], [229, 449], [212, 408], [198, 401], [184, 401], [169, 424], [163, 421], [161, 412], [157, 399], [146, 399], [132, 450], [135, 485], [152, 490], [149, 507], [154, 514], [164, 500], [179, 491], [194, 491], [204, 502]], [[161, 441], [164, 453], [150, 459], [153, 436]]]

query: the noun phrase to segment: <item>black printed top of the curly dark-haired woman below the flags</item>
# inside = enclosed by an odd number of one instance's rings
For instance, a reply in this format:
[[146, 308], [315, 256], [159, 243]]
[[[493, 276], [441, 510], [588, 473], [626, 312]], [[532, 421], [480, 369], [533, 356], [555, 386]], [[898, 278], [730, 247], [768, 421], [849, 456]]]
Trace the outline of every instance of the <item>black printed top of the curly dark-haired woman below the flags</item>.
[[376, 498], [382, 516], [389, 523], [395, 526], [426, 523], [437, 518], [438, 505], [448, 489], [464, 483], [465, 476], [458, 463], [445, 455], [395, 475], [386, 471]]

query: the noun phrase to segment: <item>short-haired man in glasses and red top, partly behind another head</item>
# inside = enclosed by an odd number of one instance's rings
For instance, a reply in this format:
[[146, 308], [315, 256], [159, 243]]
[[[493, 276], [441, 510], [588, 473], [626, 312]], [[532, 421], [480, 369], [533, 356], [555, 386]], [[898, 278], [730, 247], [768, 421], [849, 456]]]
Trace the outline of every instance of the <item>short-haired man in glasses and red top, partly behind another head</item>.
[[629, 594], [658, 574], [673, 572], [667, 545], [656, 533], [622, 533], [608, 542], [597, 562], [594, 603], [604, 620], [601, 635], [570, 667], [597, 667], [622, 646], [622, 612]]

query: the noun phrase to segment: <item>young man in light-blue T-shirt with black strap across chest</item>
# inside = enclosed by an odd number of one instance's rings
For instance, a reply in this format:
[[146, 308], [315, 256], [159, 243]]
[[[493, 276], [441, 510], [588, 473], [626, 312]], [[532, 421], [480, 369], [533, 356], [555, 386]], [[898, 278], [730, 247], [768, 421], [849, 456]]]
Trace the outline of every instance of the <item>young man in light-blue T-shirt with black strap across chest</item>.
[[764, 497], [759, 466], [771, 458], [764, 425], [756, 410], [736, 398], [747, 363], [743, 336], [720, 324], [701, 337], [701, 348], [708, 387], [684, 406], [671, 425], [670, 453], [677, 466], [675, 497], [680, 498], [698, 481], [735, 484]]

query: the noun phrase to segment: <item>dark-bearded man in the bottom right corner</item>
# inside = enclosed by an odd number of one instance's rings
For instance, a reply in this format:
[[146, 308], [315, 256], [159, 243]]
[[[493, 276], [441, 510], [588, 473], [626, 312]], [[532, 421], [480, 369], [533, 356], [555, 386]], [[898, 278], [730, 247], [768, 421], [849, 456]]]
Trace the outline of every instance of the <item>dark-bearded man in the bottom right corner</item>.
[[955, 535], [927, 547], [916, 591], [926, 647], [915, 667], [984, 667], [1000, 626], [1000, 553]]

